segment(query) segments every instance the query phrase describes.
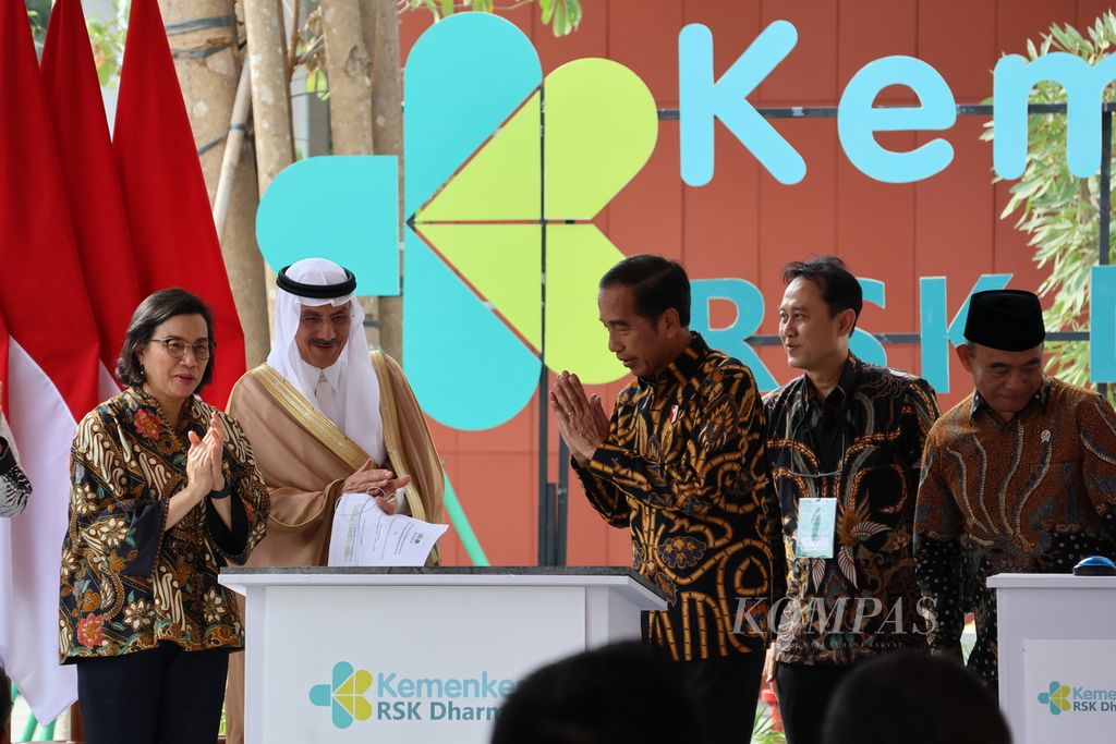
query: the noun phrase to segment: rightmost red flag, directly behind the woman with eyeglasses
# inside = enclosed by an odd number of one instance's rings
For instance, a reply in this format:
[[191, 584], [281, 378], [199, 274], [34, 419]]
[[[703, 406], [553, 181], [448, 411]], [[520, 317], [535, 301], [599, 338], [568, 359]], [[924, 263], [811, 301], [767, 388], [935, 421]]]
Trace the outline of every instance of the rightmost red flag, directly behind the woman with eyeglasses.
[[183, 287], [212, 308], [219, 346], [204, 397], [223, 408], [244, 373], [244, 332], [156, 0], [132, 1], [113, 149], [140, 290]]

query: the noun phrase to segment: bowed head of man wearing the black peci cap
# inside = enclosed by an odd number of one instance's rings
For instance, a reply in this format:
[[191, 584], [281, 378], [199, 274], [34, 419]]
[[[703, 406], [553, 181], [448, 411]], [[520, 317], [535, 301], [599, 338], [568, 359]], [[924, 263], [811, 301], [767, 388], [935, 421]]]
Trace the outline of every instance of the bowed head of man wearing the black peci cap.
[[1042, 306], [1035, 293], [995, 289], [969, 300], [965, 342], [958, 347], [958, 358], [1001, 419], [1014, 418], [1039, 392], [1045, 341]]

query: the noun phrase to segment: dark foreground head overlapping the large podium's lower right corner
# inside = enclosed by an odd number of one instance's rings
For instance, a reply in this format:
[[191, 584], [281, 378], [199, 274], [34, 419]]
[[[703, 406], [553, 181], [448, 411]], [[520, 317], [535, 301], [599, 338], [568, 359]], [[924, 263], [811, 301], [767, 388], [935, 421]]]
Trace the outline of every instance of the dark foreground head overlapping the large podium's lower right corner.
[[690, 692], [670, 659], [637, 642], [547, 665], [508, 696], [492, 744], [700, 743]]

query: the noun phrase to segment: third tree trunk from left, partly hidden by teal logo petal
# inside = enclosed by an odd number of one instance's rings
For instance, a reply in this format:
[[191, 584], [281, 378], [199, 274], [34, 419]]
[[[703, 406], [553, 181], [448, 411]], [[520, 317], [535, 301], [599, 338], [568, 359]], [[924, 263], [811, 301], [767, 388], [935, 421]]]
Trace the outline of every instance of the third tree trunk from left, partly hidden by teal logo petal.
[[[373, 155], [372, 56], [358, 0], [321, 0], [329, 77], [329, 131], [335, 155]], [[362, 298], [372, 348], [381, 346], [377, 298]]]

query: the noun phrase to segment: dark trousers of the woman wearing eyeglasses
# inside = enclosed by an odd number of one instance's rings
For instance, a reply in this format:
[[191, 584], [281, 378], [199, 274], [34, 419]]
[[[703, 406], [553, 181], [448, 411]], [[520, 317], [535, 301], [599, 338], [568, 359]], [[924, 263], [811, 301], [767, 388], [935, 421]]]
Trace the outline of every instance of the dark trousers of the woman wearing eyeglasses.
[[86, 744], [213, 744], [229, 649], [148, 651], [77, 661]]

